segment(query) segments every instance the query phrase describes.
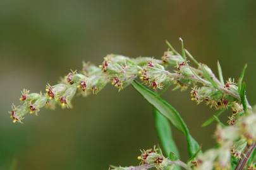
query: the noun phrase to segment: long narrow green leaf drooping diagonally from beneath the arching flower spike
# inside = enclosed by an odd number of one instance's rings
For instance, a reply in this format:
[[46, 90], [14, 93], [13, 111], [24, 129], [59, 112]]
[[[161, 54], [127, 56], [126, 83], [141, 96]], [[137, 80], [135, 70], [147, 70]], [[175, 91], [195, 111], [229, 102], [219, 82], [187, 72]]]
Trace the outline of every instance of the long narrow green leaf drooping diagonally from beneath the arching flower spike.
[[133, 81], [131, 84], [133, 85], [133, 88], [135, 88], [140, 94], [142, 94], [142, 96], [151, 105], [159, 110], [162, 115], [166, 116], [166, 118], [168, 118], [168, 120], [174, 125], [174, 127], [178, 128], [178, 130], [184, 133], [188, 142], [188, 151], [190, 156], [195, 154], [195, 152], [197, 152], [199, 148], [199, 145], [190, 134], [186, 123], [180, 116], [180, 113], [178, 113], [178, 111], [176, 111], [173, 106], [171, 106], [167, 101], [164, 101], [158, 94], [145, 88], [145, 86], [143, 86], [139, 82]]

